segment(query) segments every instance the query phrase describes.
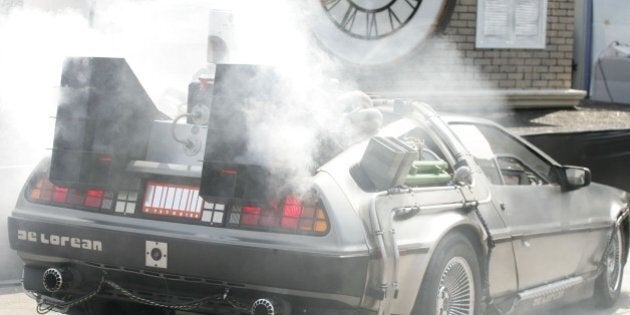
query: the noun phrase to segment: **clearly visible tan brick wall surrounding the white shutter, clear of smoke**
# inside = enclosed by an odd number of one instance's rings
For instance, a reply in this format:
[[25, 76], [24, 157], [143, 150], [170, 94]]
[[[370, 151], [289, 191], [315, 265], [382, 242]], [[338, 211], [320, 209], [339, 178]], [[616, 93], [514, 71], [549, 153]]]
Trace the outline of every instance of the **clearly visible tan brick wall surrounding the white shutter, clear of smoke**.
[[499, 88], [569, 89], [574, 0], [548, 0], [545, 49], [475, 49], [476, 0], [458, 0], [445, 35]]

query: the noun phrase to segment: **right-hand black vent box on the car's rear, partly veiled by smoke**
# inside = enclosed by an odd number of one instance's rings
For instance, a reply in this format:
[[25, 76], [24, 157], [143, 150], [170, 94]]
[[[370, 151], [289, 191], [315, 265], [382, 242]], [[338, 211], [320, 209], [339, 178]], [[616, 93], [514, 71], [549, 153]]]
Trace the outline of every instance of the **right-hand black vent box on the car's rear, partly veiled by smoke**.
[[[273, 106], [279, 76], [272, 68], [255, 65], [217, 65], [212, 111], [206, 140], [200, 194], [265, 200], [270, 172], [248, 154], [252, 111]], [[248, 116], [249, 115], [249, 116]]]

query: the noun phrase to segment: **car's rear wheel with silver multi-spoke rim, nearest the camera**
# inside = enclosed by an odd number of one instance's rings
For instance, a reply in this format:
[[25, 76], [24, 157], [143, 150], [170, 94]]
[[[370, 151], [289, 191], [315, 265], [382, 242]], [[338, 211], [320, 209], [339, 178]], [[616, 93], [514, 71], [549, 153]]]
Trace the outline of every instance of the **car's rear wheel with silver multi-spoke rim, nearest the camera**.
[[479, 259], [472, 244], [460, 233], [448, 234], [431, 257], [412, 314], [473, 315], [481, 298]]

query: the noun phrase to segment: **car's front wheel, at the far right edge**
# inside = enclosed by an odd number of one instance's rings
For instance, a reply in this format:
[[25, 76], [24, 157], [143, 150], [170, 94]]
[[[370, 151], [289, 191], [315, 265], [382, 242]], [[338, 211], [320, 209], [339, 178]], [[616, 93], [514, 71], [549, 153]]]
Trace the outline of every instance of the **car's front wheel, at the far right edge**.
[[623, 280], [623, 238], [621, 229], [613, 231], [602, 261], [604, 270], [595, 280], [593, 298], [597, 306], [607, 308], [615, 304], [621, 292]]

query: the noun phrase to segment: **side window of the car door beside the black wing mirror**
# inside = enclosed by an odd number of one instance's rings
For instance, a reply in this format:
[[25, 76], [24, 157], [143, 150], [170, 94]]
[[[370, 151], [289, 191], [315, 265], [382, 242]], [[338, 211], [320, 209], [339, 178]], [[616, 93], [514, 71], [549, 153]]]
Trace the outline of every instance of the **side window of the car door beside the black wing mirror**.
[[510, 134], [486, 125], [452, 124], [451, 129], [493, 184], [554, 182], [551, 163]]

